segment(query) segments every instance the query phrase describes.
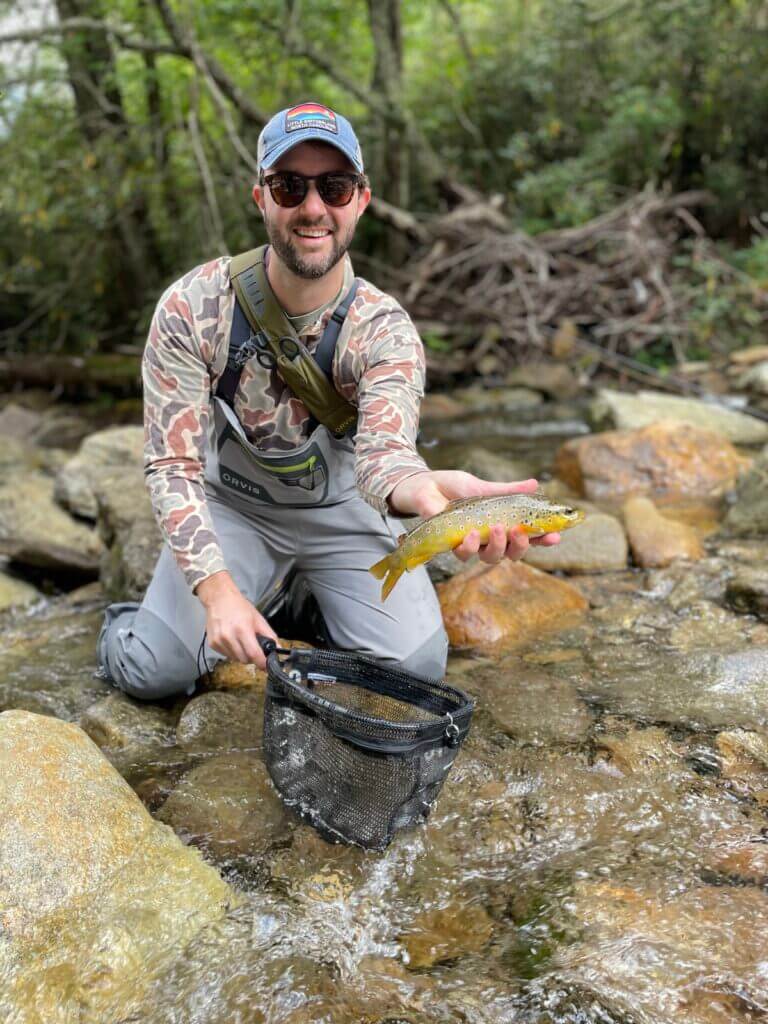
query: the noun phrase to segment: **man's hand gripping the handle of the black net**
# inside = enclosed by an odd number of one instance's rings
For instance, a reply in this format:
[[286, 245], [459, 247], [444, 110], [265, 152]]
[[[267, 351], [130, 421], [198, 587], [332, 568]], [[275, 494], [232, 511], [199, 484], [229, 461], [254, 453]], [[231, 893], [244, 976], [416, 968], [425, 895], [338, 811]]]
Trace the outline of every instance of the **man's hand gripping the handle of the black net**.
[[207, 577], [195, 592], [206, 609], [209, 645], [230, 662], [263, 669], [266, 658], [256, 635], [278, 637], [266, 618], [243, 596], [226, 571]]

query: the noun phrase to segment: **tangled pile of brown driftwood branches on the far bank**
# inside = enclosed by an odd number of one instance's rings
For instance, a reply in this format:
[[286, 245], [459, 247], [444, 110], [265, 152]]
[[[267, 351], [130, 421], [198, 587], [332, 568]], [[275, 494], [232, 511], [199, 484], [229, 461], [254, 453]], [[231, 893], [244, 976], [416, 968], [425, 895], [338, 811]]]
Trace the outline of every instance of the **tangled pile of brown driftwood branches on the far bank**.
[[707, 201], [646, 191], [580, 227], [530, 237], [470, 198], [428, 224], [394, 225], [421, 245], [392, 290], [426, 337], [451, 341], [430, 358], [433, 375], [477, 372], [490, 353], [503, 372], [575, 339], [626, 357], [664, 338], [683, 361], [690, 295], [674, 286], [672, 261], [682, 236], [711, 248], [691, 212]]

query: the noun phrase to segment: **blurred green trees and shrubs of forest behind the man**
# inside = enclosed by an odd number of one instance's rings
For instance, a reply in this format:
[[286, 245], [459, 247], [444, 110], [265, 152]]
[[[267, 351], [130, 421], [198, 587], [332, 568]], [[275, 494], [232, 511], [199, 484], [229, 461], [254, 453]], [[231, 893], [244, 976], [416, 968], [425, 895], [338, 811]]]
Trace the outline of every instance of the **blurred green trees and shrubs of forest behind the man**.
[[168, 283], [262, 241], [256, 139], [309, 98], [358, 130], [355, 267], [403, 298], [462, 204], [495, 244], [694, 191], [683, 326], [633, 354], [766, 340], [766, 53], [765, 0], [0, 0], [0, 354], [137, 350]]

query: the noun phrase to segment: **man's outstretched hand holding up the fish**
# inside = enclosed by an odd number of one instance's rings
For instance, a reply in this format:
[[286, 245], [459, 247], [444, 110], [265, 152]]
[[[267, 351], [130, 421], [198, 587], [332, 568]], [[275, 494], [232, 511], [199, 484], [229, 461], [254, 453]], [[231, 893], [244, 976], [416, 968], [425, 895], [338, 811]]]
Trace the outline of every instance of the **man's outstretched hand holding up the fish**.
[[[389, 496], [389, 504], [395, 512], [403, 515], [426, 517], [442, 512], [449, 502], [457, 498], [529, 495], [538, 486], [539, 482], [535, 479], [493, 483], [460, 470], [434, 470], [428, 473], [416, 473], [401, 480]], [[506, 529], [503, 523], [497, 523], [490, 527], [487, 544], [481, 545], [479, 531], [473, 529], [457, 548], [454, 548], [454, 554], [463, 562], [477, 555], [480, 561], [494, 565], [502, 558], [522, 558], [529, 544], [549, 547], [559, 542], [559, 534], [545, 534], [543, 537], [528, 539], [526, 534], [515, 526]]]

